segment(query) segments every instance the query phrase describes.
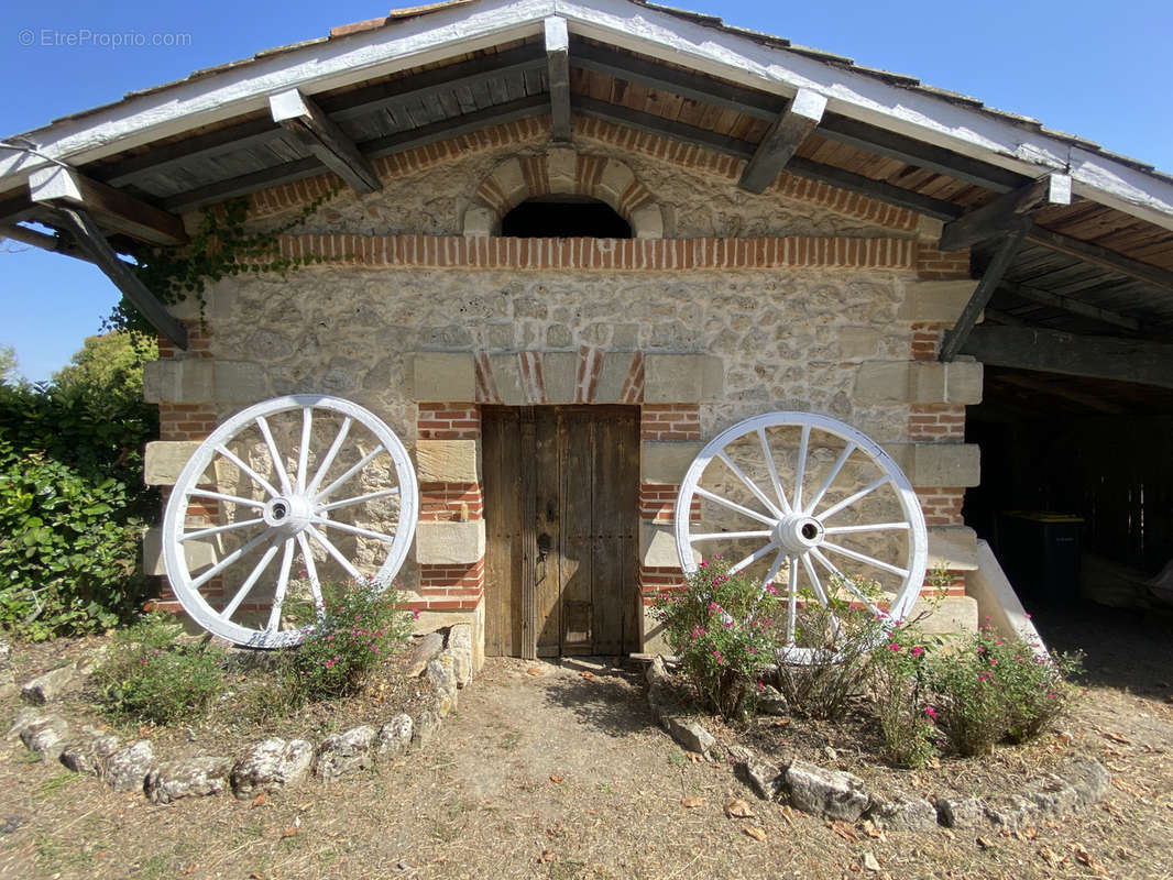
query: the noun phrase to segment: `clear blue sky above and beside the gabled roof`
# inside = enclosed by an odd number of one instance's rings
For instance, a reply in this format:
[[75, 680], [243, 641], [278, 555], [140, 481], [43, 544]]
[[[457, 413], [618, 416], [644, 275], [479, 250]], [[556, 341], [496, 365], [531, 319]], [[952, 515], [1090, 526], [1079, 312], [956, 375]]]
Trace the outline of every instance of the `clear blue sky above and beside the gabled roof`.
[[[917, 76], [1173, 171], [1169, 0], [670, 5]], [[9, 7], [0, 23], [0, 82], [6, 83], [0, 135], [201, 67], [320, 36], [388, 8], [350, 0], [66, 0]], [[134, 41], [147, 45], [115, 47], [115, 35], [124, 34], [141, 34]], [[15, 347], [28, 379], [47, 379], [84, 337], [99, 332], [116, 291], [96, 269], [69, 257], [11, 242], [0, 250], [16, 251], [0, 253], [0, 345]]]

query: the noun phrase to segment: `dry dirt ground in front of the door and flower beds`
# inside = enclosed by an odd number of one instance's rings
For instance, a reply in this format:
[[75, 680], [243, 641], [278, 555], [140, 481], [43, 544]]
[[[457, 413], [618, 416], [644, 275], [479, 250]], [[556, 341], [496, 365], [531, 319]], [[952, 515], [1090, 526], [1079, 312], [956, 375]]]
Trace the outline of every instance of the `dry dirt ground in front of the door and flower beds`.
[[[655, 725], [638, 669], [493, 661], [425, 752], [259, 805], [221, 796], [156, 806], [6, 743], [0, 876], [1173, 876], [1173, 628], [1093, 607], [1035, 611], [1045, 637], [1089, 654], [1071, 742], [1002, 752], [996, 773], [983, 761], [943, 761], [915, 779], [882, 771], [931, 796], [981, 791], [1066, 754], [1110, 767], [1106, 801], [1019, 833], [870, 837], [830, 825], [758, 800], [728, 765], [690, 760]], [[16, 711], [15, 699], [0, 705], [0, 722]], [[836, 747], [855, 759], [849, 743]], [[727, 818], [734, 798], [755, 815]]]

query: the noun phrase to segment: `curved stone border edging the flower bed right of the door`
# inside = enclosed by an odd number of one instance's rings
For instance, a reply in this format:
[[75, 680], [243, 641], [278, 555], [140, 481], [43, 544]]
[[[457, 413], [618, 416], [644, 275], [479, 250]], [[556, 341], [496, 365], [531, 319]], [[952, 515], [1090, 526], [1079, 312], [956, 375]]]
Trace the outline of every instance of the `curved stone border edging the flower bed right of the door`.
[[902, 791], [875, 792], [857, 776], [798, 758], [774, 764], [741, 745], [721, 746], [692, 718], [674, 715], [664, 700], [671, 681], [663, 656], [647, 666], [647, 705], [684, 749], [730, 760], [738, 778], [762, 800], [779, 800], [805, 813], [839, 821], [870, 820], [881, 831], [1002, 827], [1016, 830], [1103, 800], [1112, 777], [1094, 758], [1071, 758], [1057, 773], [1024, 779], [1017, 791], [992, 798], [938, 798], [930, 803]]

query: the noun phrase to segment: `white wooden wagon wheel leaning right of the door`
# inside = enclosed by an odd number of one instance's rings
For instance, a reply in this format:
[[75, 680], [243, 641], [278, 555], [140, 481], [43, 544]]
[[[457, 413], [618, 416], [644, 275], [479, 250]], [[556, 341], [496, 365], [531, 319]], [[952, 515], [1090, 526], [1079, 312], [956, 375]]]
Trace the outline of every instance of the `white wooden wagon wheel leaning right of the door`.
[[[800, 643], [804, 594], [827, 608], [834, 590], [890, 628], [920, 595], [928, 532], [911, 483], [875, 441], [826, 415], [775, 412], [724, 431], [693, 460], [677, 497], [676, 546], [686, 573], [698, 554], [727, 554], [730, 570], [748, 570], [762, 593], [777, 578], [781, 658], [811, 663], [828, 645]], [[857, 578], [880, 589], [862, 590]], [[827, 616], [838, 638], [840, 622]]]

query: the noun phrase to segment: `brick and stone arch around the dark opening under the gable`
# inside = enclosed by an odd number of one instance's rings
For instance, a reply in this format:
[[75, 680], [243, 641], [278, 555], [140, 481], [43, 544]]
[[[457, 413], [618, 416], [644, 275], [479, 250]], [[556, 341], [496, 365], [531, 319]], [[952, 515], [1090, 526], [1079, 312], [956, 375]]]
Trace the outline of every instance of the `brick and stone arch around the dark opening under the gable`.
[[625, 162], [569, 147], [499, 163], [465, 211], [465, 235], [500, 235], [501, 218], [527, 198], [560, 194], [590, 196], [609, 204], [631, 224], [633, 238], [664, 237], [660, 207]]

